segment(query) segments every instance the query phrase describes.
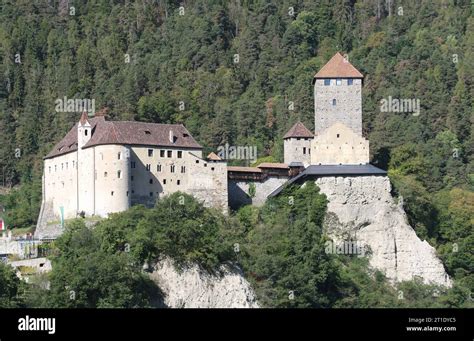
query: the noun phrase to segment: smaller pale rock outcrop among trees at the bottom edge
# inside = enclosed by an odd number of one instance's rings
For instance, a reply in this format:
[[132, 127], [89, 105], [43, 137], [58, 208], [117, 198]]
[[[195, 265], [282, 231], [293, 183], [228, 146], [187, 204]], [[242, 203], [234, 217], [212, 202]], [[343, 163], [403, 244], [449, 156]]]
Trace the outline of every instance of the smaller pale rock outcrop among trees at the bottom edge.
[[221, 266], [220, 275], [211, 275], [197, 265], [177, 271], [173, 261], [158, 262], [151, 279], [165, 295], [170, 308], [258, 308], [250, 284], [238, 269]]

